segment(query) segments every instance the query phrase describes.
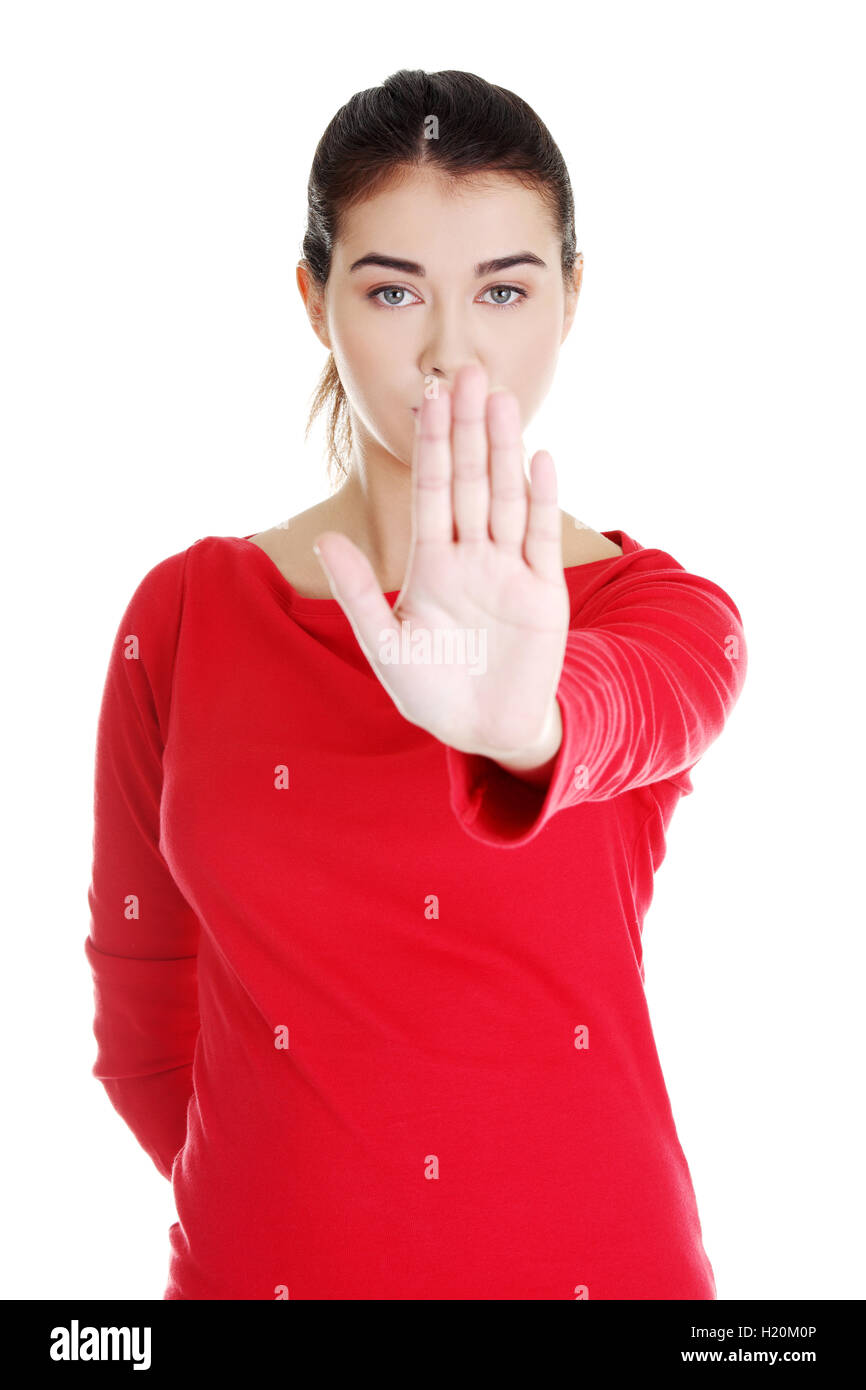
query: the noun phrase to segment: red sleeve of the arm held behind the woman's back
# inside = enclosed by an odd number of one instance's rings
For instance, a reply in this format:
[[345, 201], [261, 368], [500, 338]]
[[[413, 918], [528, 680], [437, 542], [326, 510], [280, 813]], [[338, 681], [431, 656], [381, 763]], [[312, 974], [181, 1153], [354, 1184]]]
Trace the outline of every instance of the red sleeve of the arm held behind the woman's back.
[[85, 955], [100, 1080], [160, 1173], [186, 1138], [199, 1033], [199, 922], [160, 852], [160, 798], [186, 556], [135, 591], [111, 652], [96, 735]]

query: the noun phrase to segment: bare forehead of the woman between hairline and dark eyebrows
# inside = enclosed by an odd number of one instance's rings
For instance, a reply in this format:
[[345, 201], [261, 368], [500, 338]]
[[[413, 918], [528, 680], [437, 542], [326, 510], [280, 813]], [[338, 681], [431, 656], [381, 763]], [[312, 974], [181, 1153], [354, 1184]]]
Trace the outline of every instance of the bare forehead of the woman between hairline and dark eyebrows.
[[343, 214], [334, 260], [346, 270], [357, 257], [381, 252], [420, 261], [432, 274], [466, 270], [518, 247], [546, 260], [553, 242], [542, 199], [517, 179], [411, 170]]

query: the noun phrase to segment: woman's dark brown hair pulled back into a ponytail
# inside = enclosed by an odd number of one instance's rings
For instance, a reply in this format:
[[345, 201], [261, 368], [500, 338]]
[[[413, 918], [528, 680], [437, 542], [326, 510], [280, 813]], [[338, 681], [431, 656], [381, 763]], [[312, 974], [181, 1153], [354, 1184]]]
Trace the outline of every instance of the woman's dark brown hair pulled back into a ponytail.
[[[430, 138], [435, 117], [435, 138]], [[507, 174], [541, 195], [562, 236], [566, 289], [577, 257], [574, 197], [566, 163], [544, 121], [514, 92], [474, 72], [400, 68], [377, 88], [356, 92], [320, 139], [307, 182], [303, 260], [324, 289], [345, 214], [400, 172], [431, 170], [453, 178]], [[304, 439], [328, 404], [328, 475], [348, 475], [349, 402], [334, 353], [320, 377]]]

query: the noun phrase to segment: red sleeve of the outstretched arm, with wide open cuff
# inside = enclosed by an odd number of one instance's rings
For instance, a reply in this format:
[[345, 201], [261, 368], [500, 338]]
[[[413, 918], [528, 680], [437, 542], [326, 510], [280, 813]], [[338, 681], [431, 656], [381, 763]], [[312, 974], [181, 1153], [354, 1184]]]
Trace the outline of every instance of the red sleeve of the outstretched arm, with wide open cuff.
[[520, 848], [569, 806], [678, 781], [721, 733], [748, 653], [733, 599], [663, 550], [641, 549], [571, 616], [556, 689], [563, 738], [546, 787], [446, 748], [467, 834]]

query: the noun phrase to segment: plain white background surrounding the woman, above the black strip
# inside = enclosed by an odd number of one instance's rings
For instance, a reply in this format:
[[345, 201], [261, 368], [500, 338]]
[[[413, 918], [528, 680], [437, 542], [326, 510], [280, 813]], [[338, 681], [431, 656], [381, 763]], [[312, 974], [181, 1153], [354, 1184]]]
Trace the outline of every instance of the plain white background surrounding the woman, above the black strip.
[[316, 143], [400, 67], [518, 92], [584, 286], [524, 438], [719, 582], [746, 687], [646, 988], [719, 1297], [863, 1298], [863, 47], [834, 3], [7, 3], [0, 21], [6, 1298], [161, 1298], [171, 1188], [90, 1068], [96, 716], [135, 587], [327, 496]]

